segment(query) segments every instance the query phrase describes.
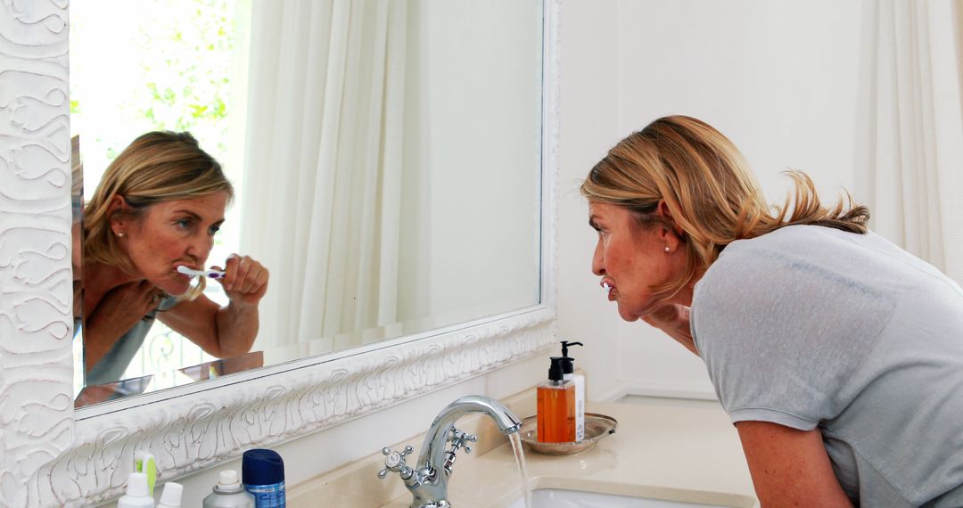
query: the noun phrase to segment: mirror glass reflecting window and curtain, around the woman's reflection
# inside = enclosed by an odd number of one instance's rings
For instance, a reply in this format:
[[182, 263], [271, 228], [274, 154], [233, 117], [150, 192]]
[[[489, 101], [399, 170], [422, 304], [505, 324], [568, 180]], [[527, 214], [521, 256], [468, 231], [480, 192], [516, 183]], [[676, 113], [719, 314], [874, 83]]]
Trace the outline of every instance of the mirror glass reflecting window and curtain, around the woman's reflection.
[[[271, 271], [260, 328], [221, 359], [159, 318], [92, 383], [77, 342], [77, 406], [542, 302], [541, 0], [173, 6], [71, 6], [84, 194], [140, 134], [192, 132], [235, 189], [205, 266]], [[227, 302], [217, 283], [204, 297]]]

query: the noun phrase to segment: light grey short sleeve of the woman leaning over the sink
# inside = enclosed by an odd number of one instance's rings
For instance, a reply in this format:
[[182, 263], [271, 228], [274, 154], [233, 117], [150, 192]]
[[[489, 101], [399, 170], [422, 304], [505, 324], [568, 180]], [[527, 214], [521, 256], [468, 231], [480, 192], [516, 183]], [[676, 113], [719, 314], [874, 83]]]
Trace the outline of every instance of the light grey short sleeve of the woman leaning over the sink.
[[696, 287], [700, 355], [733, 422], [812, 430], [859, 393], [854, 374], [895, 301], [793, 252], [736, 246]]

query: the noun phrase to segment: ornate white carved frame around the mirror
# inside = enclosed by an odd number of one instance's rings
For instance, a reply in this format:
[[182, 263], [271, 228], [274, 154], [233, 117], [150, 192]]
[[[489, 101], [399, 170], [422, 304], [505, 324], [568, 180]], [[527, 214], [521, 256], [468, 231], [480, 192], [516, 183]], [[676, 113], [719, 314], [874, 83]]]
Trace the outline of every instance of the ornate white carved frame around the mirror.
[[544, 0], [541, 303], [74, 412], [67, 0], [0, 7], [0, 505], [120, 494], [135, 450], [171, 478], [547, 350], [556, 318], [560, 0]]

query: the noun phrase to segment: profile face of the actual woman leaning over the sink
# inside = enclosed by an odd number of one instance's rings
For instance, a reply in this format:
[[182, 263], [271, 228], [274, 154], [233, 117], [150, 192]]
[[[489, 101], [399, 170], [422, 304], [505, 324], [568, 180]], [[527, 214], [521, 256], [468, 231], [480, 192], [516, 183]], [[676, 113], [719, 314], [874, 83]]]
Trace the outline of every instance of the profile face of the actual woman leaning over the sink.
[[677, 256], [665, 251], [661, 229], [643, 228], [626, 208], [608, 203], [588, 204], [588, 224], [599, 240], [592, 256], [592, 273], [608, 285], [609, 301], [627, 321], [644, 318], [654, 309], [652, 286], [677, 273]]

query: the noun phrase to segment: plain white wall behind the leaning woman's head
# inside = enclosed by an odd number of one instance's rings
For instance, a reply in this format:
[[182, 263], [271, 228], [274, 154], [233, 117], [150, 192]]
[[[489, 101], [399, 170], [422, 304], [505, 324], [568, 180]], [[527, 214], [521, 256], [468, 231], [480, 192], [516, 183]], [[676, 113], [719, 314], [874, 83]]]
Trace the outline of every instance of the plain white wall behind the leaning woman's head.
[[[566, 0], [562, 10], [559, 334], [586, 343], [592, 398], [715, 397], [705, 367], [618, 318], [589, 272], [596, 239], [578, 181], [618, 140], [689, 114], [734, 140], [770, 202], [788, 168], [824, 199], [851, 189], [864, 2]], [[857, 196], [858, 197], [858, 196]]]

